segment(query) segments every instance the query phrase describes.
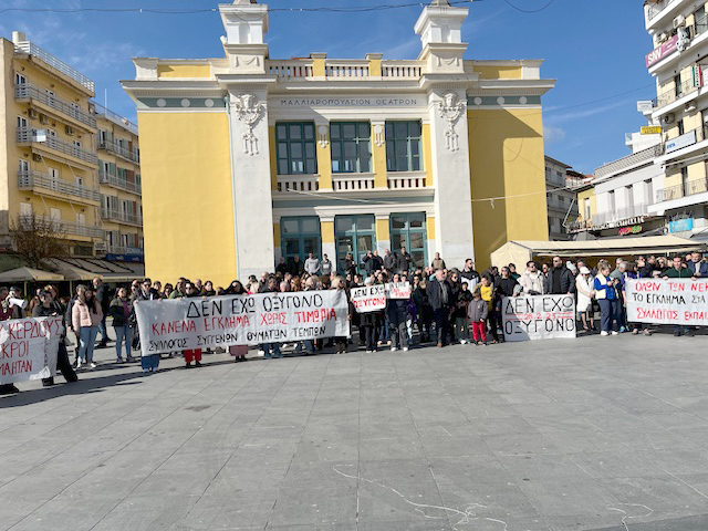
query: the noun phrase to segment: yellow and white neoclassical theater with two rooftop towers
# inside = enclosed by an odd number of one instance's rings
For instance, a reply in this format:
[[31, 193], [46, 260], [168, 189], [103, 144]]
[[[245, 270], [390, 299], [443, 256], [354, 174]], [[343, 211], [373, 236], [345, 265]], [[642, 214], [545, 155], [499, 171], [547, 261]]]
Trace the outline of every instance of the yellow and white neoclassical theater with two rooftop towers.
[[[341, 264], [406, 247], [479, 268], [546, 240], [542, 61], [465, 60], [467, 8], [435, 0], [417, 60], [279, 60], [268, 7], [219, 6], [219, 59], [134, 59], [146, 272], [171, 281]], [[216, 35], [215, 35], [216, 39]], [[412, 33], [412, 39], [416, 39]]]

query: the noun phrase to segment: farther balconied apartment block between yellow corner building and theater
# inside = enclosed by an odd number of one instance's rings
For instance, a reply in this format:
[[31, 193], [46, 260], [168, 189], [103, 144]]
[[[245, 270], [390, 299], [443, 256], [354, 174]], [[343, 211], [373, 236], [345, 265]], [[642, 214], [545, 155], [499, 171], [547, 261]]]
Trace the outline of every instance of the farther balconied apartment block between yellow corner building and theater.
[[93, 103], [101, 220], [108, 260], [143, 261], [143, 201], [137, 125]]

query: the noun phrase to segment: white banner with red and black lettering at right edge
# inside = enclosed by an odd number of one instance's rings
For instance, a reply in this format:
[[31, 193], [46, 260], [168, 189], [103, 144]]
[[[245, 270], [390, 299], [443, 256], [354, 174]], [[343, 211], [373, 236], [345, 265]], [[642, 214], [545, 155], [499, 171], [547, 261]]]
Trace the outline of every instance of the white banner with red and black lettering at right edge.
[[708, 326], [708, 280], [628, 279], [625, 293], [631, 323]]

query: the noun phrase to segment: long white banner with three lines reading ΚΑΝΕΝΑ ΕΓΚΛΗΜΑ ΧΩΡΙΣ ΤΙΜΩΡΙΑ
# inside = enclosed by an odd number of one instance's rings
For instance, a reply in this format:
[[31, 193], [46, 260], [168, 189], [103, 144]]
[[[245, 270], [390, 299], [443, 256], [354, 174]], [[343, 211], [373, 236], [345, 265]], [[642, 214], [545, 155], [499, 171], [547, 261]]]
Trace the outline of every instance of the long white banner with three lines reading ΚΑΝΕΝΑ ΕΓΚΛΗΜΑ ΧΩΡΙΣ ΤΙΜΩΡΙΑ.
[[350, 335], [337, 290], [140, 301], [135, 313], [145, 354]]

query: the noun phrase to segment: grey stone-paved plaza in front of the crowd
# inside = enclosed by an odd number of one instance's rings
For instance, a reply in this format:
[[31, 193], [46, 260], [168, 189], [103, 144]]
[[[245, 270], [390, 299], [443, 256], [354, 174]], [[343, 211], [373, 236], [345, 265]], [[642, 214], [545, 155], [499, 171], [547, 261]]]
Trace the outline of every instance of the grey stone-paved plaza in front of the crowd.
[[[708, 342], [104, 361], [0, 398], [0, 529], [708, 529]], [[63, 378], [58, 377], [58, 382]]]

